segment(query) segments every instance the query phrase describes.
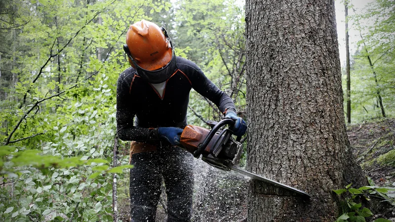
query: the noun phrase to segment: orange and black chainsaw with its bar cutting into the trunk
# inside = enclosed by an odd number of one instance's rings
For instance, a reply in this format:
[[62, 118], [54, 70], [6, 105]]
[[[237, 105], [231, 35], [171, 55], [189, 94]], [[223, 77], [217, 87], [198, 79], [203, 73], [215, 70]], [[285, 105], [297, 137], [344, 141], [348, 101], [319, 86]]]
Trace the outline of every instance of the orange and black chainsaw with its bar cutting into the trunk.
[[[180, 147], [193, 153], [194, 157], [199, 158], [213, 167], [224, 171], [236, 171], [247, 177], [259, 180], [276, 187], [290, 190], [300, 196], [311, 196], [299, 189], [288, 185], [278, 183], [276, 181], [261, 177], [257, 174], [247, 172], [237, 167], [241, 153], [243, 152], [240, 143], [241, 137], [233, 138], [233, 131], [224, 126], [233, 126], [235, 121], [232, 119], [223, 119], [220, 122], [209, 120], [206, 122], [211, 130], [204, 127], [187, 125], [184, 128], [180, 138]], [[224, 128], [224, 129], [222, 129]]]

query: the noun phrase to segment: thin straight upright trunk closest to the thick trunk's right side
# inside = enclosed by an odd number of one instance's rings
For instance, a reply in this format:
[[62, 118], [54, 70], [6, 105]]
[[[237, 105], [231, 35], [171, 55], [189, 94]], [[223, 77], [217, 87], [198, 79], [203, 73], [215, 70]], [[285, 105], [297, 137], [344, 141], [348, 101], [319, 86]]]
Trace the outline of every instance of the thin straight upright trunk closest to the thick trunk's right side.
[[346, 74], [347, 74], [347, 123], [351, 123], [351, 78], [350, 78], [350, 45], [349, 45], [349, 18], [348, 18], [348, 1], [344, 2], [344, 11], [346, 17]]

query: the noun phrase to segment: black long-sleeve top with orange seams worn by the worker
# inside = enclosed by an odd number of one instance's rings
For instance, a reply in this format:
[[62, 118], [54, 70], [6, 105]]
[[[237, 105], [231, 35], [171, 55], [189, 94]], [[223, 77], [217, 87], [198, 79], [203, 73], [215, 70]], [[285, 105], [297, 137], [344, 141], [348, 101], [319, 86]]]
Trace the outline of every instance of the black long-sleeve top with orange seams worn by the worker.
[[130, 67], [119, 75], [119, 139], [138, 142], [159, 140], [158, 127], [184, 128], [187, 125], [189, 93], [192, 88], [217, 105], [221, 112], [236, 112], [232, 99], [212, 83], [195, 63], [181, 57], [176, 59], [178, 69], [166, 80], [163, 98], [134, 68]]

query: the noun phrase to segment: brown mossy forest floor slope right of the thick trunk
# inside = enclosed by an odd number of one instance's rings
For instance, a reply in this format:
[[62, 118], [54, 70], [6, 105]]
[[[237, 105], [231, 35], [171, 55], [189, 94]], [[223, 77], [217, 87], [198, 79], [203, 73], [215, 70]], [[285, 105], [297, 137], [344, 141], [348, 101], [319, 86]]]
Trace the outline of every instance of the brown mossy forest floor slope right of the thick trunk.
[[[376, 186], [395, 186], [395, 119], [348, 127], [347, 135], [356, 161]], [[373, 218], [395, 222], [390, 204], [371, 206]]]

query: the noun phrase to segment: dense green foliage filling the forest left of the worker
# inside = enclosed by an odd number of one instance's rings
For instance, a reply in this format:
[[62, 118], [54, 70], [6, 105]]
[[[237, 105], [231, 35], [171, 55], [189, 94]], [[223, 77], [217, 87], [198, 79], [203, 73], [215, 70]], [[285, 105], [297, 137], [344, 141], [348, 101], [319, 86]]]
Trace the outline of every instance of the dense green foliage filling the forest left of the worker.
[[1, 221], [113, 221], [113, 175], [132, 167], [112, 162], [116, 83], [143, 8], [169, 2], [1, 1]]

